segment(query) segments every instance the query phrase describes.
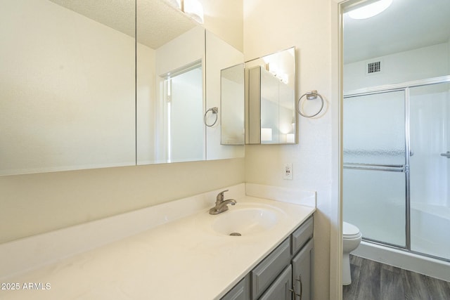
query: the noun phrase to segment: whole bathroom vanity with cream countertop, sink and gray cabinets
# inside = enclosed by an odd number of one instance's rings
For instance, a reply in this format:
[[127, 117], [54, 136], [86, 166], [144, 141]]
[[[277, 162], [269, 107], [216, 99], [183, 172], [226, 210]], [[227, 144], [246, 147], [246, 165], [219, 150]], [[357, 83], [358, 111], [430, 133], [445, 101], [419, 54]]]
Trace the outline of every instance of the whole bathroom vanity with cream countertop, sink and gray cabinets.
[[309, 299], [315, 193], [228, 189], [0, 244], [0, 298]]

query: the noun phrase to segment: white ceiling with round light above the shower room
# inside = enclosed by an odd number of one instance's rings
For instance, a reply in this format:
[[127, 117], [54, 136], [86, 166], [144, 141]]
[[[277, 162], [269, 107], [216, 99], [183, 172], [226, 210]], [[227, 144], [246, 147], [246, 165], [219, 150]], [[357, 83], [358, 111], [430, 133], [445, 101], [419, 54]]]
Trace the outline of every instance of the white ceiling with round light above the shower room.
[[394, 0], [366, 20], [344, 17], [344, 62], [442, 44], [450, 39], [450, 0]]

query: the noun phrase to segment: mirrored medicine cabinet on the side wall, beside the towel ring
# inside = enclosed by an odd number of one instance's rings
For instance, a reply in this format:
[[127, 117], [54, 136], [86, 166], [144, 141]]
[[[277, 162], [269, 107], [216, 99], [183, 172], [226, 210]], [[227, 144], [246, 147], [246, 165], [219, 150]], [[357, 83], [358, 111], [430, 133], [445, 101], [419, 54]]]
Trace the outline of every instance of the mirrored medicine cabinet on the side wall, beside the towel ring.
[[245, 143], [297, 143], [295, 47], [245, 62]]

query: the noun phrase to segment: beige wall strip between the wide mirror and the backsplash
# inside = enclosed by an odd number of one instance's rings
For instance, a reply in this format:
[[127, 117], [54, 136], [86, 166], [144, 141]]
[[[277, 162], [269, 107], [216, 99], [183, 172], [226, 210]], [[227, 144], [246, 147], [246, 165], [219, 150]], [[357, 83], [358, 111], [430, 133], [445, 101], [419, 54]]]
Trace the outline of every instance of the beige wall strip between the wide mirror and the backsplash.
[[0, 176], [0, 243], [243, 181], [243, 158]]

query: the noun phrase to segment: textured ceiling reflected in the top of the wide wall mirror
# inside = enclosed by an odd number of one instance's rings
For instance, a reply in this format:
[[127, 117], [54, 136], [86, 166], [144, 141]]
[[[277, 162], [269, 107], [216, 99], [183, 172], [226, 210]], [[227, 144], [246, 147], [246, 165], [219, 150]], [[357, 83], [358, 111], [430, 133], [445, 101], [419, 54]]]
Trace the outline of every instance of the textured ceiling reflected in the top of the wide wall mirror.
[[139, 43], [159, 48], [195, 27], [195, 22], [164, 0], [137, 0], [137, 15], [131, 0], [49, 0], [103, 25], [135, 36]]

